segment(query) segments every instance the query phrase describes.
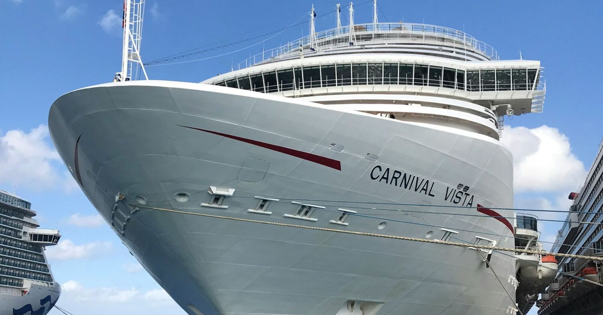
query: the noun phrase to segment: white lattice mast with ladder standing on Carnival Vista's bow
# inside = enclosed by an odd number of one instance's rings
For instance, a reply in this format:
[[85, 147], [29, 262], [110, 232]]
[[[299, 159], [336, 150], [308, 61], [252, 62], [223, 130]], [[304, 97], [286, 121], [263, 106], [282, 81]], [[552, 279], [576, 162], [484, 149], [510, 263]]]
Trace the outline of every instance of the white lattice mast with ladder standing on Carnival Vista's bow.
[[[115, 74], [113, 81], [136, 79], [139, 67], [148, 80], [147, 71], [140, 59], [140, 40], [142, 39], [142, 20], [145, 12], [145, 0], [124, 0], [124, 42], [121, 56], [121, 72]], [[134, 67], [136, 70], [134, 71]]]

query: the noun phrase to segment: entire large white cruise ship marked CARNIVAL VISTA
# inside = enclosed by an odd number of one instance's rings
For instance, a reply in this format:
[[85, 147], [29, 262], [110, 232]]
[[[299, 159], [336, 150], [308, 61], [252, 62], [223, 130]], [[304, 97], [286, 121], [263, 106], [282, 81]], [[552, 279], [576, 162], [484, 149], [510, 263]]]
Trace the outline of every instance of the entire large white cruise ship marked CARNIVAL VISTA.
[[504, 116], [542, 111], [540, 62], [379, 22], [375, 1], [365, 24], [333, 5], [326, 31], [312, 8], [309, 36], [201, 83], [134, 80], [142, 7], [126, 1], [115, 80], [62, 95], [48, 124], [188, 314], [519, 314], [551, 281], [552, 257], [387, 238], [541, 248], [499, 141]]

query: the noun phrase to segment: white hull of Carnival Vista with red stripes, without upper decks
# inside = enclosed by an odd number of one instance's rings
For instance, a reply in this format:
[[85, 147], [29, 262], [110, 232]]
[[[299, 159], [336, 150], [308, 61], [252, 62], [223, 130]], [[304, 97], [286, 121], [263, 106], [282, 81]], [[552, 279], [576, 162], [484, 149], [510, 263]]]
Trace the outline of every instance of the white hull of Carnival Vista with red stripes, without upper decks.
[[[98, 212], [189, 314], [515, 307], [513, 255], [492, 254], [496, 279], [473, 249], [151, 209], [513, 247], [503, 220], [445, 214], [512, 208], [511, 154], [487, 136], [172, 81], [70, 92], [49, 129]], [[270, 201], [262, 213], [248, 210], [257, 197]], [[300, 215], [300, 203], [317, 207]], [[343, 222], [339, 209], [362, 216]]]

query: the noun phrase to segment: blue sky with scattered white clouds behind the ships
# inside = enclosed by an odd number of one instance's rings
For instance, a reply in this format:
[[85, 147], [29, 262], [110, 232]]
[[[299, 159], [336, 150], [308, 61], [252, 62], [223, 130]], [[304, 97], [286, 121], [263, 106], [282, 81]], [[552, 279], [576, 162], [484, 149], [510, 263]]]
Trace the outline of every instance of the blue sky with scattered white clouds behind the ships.
[[[300, 18], [306, 21], [311, 4], [148, 0], [142, 57], [150, 61], [227, 37], [238, 36], [216, 45], [279, 30]], [[334, 11], [335, 4], [314, 2], [318, 16]], [[501, 59], [519, 59], [522, 51], [524, 59], [541, 60], [547, 83], [544, 113], [507, 119], [502, 141], [516, 158], [516, 206], [565, 209], [564, 197], [586, 175], [603, 136], [603, 66], [598, 58], [603, 5], [379, 0], [379, 6], [385, 13], [379, 14], [380, 21], [465, 30], [494, 46]], [[64, 235], [61, 247], [49, 249], [55, 278], [67, 284], [58, 305], [74, 314], [184, 314], [99, 220], [48, 138], [52, 101], [73, 89], [111, 81], [119, 70], [121, 8], [117, 0], [0, 0], [0, 189], [16, 188], [40, 212], [43, 227]], [[371, 5], [357, 6], [356, 22], [370, 21]], [[317, 20], [317, 30], [334, 26], [335, 14]], [[307, 24], [227, 56], [147, 71], [153, 79], [201, 81], [227, 72], [262, 46], [273, 48], [302, 34], [308, 34]], [[545, 240], [558, 229], [550, 223], [541, 227]]]

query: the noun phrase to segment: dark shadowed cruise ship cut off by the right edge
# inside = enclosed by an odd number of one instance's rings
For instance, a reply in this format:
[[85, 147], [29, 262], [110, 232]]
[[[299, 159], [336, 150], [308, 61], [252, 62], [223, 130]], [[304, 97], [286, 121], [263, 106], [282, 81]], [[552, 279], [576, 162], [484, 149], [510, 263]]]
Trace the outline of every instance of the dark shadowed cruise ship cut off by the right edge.
[[[576, 193], [566, 223], [557, 232], [552, 251], [603, 256], [603, 142], [589, 174]], [[603, 313], [603, 264], [584, 258], [561, 258], [559, 270], [537, 302], [538, 315]]]

